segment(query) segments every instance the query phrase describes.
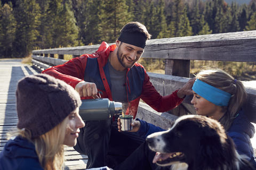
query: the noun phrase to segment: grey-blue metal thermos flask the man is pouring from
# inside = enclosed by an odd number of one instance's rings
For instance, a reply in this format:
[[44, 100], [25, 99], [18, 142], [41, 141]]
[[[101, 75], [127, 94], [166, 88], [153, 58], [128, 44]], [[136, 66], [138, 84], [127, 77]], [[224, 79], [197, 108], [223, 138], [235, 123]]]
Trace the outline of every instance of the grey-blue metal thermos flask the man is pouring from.
[[85, 99], [79, 107], [83, 121], [107, 120], [110, 116], [122, 114], [122, 103], [108, 98]]

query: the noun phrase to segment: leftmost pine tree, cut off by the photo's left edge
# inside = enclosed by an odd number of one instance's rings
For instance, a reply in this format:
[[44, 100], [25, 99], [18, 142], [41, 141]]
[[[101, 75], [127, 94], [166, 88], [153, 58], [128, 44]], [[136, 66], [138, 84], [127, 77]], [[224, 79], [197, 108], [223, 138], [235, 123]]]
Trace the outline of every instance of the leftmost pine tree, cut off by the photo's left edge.
[[12, 4], [0, 1], [0, 57], [12, 57], [16, 21], [13, 15]]

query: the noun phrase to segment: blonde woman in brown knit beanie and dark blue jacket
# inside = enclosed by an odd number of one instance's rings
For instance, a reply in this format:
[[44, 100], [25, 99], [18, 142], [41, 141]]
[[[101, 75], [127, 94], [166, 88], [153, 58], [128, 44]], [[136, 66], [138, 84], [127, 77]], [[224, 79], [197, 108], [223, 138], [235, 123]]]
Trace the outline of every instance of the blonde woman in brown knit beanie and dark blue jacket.
[[81, 99], [68, 84], [46, 74], [18, 82], [17, 131], [0, 153], [0, 169], [61, 169], [64, 146], [75, 146], [84, 122]]

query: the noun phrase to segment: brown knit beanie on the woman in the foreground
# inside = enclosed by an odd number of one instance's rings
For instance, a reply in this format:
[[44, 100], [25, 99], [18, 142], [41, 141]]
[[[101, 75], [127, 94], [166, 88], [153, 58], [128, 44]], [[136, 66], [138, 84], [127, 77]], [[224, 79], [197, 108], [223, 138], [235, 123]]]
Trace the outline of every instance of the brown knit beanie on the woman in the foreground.
[[62, 80], [47, 74], [29, 75], [18, 82], [17, 113], [19, 129], [38, 137], [62, 122], [81, 106], [78, 92]]

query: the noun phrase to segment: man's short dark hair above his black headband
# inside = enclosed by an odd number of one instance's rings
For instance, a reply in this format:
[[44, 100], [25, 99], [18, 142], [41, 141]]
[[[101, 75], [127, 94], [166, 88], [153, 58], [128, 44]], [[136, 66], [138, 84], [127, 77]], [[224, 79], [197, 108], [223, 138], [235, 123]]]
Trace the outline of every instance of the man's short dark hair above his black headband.
[[121, 32], [142, 33], [147, 39], [151, 38], [147, 28], [140, 22], [129, 22], [120, 30]]

